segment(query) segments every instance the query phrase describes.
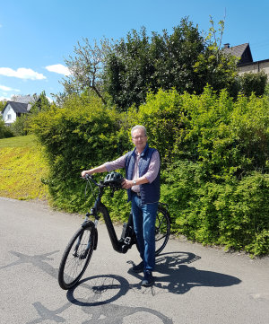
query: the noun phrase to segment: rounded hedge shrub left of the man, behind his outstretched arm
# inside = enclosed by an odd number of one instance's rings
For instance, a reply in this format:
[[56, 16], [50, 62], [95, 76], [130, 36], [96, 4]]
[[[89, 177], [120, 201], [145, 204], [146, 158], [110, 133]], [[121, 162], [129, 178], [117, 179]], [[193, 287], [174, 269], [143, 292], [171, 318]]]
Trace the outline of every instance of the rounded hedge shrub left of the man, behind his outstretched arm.
[[48, 154], [47, 183], [57, 207], [74, 211], [86, 206], [80, 173], [126, 151], [122, 120], [115, 109], [87, 93], [69, 97], [62, 109], [52, 105], [33, 119], [31, 130]]

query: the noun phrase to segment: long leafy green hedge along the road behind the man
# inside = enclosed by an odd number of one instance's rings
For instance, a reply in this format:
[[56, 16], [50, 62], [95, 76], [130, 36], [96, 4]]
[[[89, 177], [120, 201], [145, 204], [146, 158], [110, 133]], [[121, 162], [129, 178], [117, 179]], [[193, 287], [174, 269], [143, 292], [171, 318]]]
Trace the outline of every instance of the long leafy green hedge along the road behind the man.
[[[268, 253], [269, 101], [254, 95], [233, 101], [209, 87], [199, 96], [160, 90], [124, 114], [85, 94], [62, 109], [51, 107], [32, 129], [47, 149], [56, 206], [86, 209], [90, 200], [85, 203], [80, 172], [129, 150], [135, 124], [147, 127], [150, 144], [161, 153], [161, 201], [169, 204], [173, 232], [252, 255]], [[125, 219], [126, 192], [104, 201], [113, 206], [114, 219]]]

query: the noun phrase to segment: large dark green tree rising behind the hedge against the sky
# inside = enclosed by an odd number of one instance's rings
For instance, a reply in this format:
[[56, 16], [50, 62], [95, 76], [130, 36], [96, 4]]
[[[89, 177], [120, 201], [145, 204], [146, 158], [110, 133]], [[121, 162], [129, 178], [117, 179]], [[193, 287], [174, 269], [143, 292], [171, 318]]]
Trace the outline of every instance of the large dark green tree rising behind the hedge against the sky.
[[200, 87], [193, 66], [203, 51], [204, 39], [187, 18], [171, 35], [152, 32], [150, 38], [145, 28], [133, 30], [108, 53], [105, 89], [121, 110], [143, 103], [150, 89], [195, 92]]

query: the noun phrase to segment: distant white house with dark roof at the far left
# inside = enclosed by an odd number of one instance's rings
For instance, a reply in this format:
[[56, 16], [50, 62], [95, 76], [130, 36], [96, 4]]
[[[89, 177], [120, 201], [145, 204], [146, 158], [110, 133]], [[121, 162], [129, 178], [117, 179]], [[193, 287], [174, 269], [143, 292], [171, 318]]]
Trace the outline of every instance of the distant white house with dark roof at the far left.
[[34, 97], [28, 96], [15, 96], [14, 101], [7, 101], [4, 109], [2, 110], [2, 116], [4, 123], [10, 126], [18, 117], [23, 114], [29, 113], [32, 104], [34, 103]]

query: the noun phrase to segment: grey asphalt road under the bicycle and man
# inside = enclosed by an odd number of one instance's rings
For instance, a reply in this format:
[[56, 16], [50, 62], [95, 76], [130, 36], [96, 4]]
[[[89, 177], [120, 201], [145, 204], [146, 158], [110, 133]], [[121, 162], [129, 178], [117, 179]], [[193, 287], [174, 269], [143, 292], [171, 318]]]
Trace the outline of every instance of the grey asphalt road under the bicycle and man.
[[[133, 247], [118, 254], [104, 224], [81, 284], [66, 292], [57, 269], [79, 215], [0, 197], [1, 324], [268, 324], [269, 258], [169, 240], [155, 285], [142, 288], [130, 268]], [[121, 232], [117, 228], [117, 232]]]

